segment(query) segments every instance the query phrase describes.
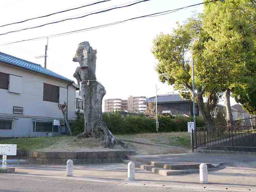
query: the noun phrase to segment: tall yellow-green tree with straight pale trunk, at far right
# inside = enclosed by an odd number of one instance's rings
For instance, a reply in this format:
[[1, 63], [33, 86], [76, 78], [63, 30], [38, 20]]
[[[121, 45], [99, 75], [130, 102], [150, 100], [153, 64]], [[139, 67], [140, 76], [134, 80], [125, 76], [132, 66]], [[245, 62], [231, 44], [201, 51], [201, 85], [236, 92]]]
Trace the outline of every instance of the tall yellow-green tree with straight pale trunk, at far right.
[[241, 86], [245, 88], [248, 77], [252, 77], [252, 66], [255, 68], [255, 31], [250, 28], [256, 21], [255, 8], [255, 0], [229, 0], [204, 6], [201, 44], [195, 46], [194, 53], [201, 65], [209, 66], [205, 67], [208, 72], [202, 74], [207, 75], [204, 80], [210, 82], [213, 77], [209, 71], [218, 71], [214, 78], [219, 83], [213, 86], [225, 91], [228, 120], [232, 120], [230, 92], [239, 94]]

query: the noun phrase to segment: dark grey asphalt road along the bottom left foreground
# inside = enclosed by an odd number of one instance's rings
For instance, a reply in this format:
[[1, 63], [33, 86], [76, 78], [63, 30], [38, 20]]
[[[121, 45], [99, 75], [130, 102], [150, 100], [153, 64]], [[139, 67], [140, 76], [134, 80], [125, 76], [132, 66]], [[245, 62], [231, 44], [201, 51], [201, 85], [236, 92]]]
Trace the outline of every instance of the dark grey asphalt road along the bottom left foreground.
[[[128, 182], [128, 181], [127, 181]], [[132, 186], [118, 182], [93, 182], [66, 178], [0, 175], [1, 192], [190, 192], [170, 187]], [[207, 190], [203, 190], [204, 192]], [[223, 190], [224, 191], [224, 190]]]

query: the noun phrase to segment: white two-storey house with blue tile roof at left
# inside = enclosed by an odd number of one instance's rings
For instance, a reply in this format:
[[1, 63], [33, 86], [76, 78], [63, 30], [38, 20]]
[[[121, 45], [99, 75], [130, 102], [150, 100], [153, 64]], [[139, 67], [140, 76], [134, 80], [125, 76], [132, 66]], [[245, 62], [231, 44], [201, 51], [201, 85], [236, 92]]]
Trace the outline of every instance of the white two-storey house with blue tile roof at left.
[[41, 65], [0, 52], [0, 137], [65, 132], [58, 104], [67, 102], [68, 119], [75, 119], [78, 89]]

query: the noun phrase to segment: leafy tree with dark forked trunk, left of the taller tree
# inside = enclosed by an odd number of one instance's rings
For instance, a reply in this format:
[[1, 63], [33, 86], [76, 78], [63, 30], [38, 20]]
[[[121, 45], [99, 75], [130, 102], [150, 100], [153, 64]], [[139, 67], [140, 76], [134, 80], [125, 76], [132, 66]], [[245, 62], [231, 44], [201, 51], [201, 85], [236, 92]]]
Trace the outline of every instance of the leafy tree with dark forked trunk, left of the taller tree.
[[[184, 25], [178, 24], [178, 28], [174, 29], [172, 34], [160, 34], [153, 41], [152, 52], [159, 61], [156, 67], [159, 80], [174, 85], [183, 97], [192, 96], [191, 59], [186, 58], [186, 53], [190, 50], [201, 26], [202, 20], [199, 15], [198, 18], [188, 19]], [[198, 65], [198, 62], [195, 65]], [[220, 99], [220, 91], [209, 86], [211, 84], [205, 84], [199, 75], [195, 75], [195, 79], [196, 102], [205, 124], [212, 125], [211, 111]], [[205, 103], [204, 97], [207, 99]]]

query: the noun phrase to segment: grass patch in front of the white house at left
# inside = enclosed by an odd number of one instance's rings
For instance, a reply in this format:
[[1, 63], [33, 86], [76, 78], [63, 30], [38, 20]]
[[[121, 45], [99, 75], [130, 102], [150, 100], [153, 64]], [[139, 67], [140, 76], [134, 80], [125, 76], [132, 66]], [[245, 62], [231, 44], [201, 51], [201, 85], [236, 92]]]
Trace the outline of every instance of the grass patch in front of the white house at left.
[[54, 136], [54, 137], [31, 137], [31, 138], [12, 138], [1, 139], [0, 144], [17, 144], [18, 150], [36, 150], [47, 148], [62, 140], [67, 136]]

